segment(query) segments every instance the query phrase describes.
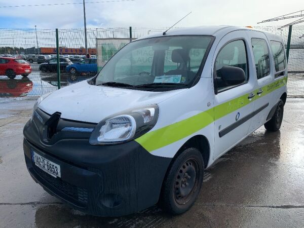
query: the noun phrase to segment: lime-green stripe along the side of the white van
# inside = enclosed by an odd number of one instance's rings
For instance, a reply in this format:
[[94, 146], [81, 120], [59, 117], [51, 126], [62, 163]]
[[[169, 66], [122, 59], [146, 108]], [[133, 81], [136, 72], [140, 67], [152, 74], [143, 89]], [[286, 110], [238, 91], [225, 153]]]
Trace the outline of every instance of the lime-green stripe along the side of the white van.
[[[218, 120], [227, 114], [253, 102], [255, 99], [258, 99], [276, 89], [281, 88], [282, 86], [286, 85], [286, 83], [287, 77], [284, 77], [283, 79], [277, 80], [274, 83], [264, 86], [262, 88], [263, 93], [260, 96], [255, 95], [254, 99], [251, 101], [248, 99], [248, 94], [242, 95], [238, 98], [224, 102], [206, 111], [198, 113], [193, 117], [189, 117], [177, 123], [168, 125], [155, 131], [148, 132], [135, 139], [135, 141], [142, 145], [149, 152], [155, 149], [159, 149], [201, 130], [202, 128], [214, 122], [214, 120]], [[258, 90], [254, 92], [256, 93], [257, 91]]]

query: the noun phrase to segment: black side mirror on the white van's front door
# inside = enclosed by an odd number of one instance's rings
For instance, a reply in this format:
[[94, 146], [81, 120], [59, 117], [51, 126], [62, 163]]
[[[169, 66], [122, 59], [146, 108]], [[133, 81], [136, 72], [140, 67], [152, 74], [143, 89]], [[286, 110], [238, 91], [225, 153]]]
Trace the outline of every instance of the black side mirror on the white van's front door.
[[245, 82], [245, 72], [240, 67], [223, 66], [221, 74], [221, 79], [226, 86], [236, 86]]

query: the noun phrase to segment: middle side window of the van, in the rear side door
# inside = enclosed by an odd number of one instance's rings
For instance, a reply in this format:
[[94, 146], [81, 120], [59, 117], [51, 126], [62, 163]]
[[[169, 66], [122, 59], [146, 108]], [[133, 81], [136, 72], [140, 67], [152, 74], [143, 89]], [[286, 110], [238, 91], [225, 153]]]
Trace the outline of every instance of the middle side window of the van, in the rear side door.
[[270, 61], [268, 46], [265, 40], [252, 38], [251, 45], [254, 56], [257, 79], [264, 78], [270, 74]]

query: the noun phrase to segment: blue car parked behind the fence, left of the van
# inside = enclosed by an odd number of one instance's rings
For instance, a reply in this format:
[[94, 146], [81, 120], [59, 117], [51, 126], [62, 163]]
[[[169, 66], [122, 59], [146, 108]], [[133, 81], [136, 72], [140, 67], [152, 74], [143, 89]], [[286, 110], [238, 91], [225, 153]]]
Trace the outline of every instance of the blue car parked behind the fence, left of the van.
[[84, 59], [78, 63], [68, 65], [66, 71], [71, 74], [97, 73], [97, 59]]

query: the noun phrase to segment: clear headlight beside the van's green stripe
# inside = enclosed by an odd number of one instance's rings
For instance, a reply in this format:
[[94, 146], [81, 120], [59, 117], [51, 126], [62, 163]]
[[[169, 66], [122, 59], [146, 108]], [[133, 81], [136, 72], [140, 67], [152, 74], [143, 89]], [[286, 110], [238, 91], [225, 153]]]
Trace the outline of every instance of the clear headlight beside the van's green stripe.
[[158, 113], [156, 104], [117, 113], [99, 122], [91, 134], [90, 143], [119, 144], [138, 138], [155, 126]]

